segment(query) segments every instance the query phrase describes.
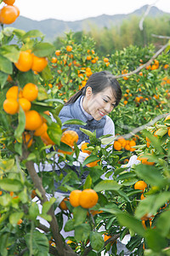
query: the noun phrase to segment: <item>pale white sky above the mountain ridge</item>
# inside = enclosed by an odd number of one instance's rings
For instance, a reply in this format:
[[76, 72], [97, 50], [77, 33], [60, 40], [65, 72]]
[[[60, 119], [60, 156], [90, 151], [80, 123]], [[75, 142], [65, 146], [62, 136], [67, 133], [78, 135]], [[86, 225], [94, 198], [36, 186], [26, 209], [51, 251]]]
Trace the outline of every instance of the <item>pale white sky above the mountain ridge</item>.
[[129, 14], [145, 4], [170, 13], [170, 0], [15, 0], [20, 15], [31, 20], [83, 20], [99, 15]]

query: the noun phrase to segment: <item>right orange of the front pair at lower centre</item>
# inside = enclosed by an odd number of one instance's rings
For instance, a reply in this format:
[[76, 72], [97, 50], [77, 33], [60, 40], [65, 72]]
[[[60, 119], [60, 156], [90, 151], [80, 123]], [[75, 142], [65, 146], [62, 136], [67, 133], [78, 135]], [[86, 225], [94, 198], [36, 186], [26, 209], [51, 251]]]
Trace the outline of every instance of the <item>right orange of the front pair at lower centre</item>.
[[99, 196], [94, 189], [84, 189], [79, 197], [79, 203], [82, 208], [92, 208], [98, 202]]

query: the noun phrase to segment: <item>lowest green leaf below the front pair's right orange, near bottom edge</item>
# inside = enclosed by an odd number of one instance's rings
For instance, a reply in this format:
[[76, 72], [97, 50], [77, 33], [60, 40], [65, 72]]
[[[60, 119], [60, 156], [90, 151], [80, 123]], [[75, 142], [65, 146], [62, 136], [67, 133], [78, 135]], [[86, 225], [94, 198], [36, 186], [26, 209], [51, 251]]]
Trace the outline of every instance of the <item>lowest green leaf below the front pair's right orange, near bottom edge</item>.
[[105, 244], [105, 241], [103, 239], [103, 236], [99, 234], [98, 232], [91, 232], [90, 233], [90, 243], [92, 248], [99, 252]]

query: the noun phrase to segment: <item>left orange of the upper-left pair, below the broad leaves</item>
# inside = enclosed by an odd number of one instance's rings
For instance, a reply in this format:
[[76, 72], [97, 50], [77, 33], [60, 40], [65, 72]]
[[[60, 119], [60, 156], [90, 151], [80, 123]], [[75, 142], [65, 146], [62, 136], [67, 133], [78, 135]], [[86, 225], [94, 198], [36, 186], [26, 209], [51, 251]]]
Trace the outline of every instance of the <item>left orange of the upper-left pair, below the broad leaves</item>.
[[23, 50], [20, 51], [20, 57], [17, 62], [14, 63], [14, 65], [22, 72], [27, 72], [31, 69], [32, 66], [32, 55], [31, 50]]

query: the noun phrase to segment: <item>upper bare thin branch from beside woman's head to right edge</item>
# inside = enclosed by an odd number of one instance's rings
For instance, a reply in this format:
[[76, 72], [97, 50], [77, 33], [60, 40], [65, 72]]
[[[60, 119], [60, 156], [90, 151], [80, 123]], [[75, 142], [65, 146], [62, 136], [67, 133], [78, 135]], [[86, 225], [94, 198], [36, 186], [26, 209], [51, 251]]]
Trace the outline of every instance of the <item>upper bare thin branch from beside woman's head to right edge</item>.
[[158, 55], [160, 55], [161, 52], [162, 52], [164, 49], [166, 49], [169, 44], [170, 44], [170, 43], [167, 42], [167, 44], [163, 45], [163, 46], [161, 47], [161, 49], [159, 49], [158, 51], [156, 51], [156, 54], [151, 57], [150, 61], [147, 61], [146, 63], [144, 63], [144, 64], [141, 65], [140, 67], [137, 67], [137, 68], [134, 69], [132, 72], [124, 73], [124, 74], [121, 74], [121, 75], [118, 75], [118, 76], [114, 76], [114, 78], [115, 78], [115, 79], [120, 79], [120, 78], [123, 78], [123, 77], [131, 76], [131, 75], [134, 74], [134, 73], [138, 73], [138, 72], [139, 72], [141, 69], [143, 69], [144, 67], [149, 66], [150, 63], [151, 63], [152, 61], [154, 61], [154, 60], [156, 59], [156, 57], [157, 57]]

